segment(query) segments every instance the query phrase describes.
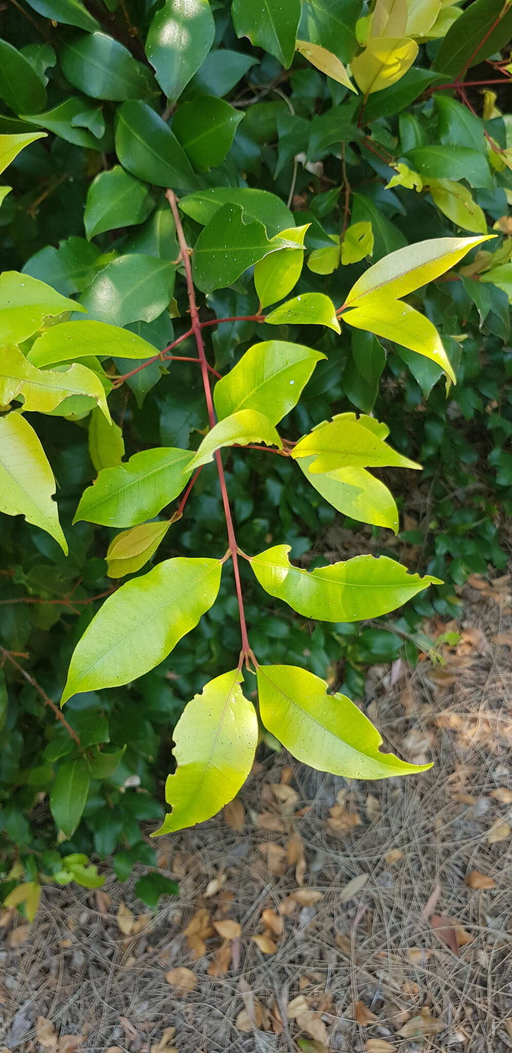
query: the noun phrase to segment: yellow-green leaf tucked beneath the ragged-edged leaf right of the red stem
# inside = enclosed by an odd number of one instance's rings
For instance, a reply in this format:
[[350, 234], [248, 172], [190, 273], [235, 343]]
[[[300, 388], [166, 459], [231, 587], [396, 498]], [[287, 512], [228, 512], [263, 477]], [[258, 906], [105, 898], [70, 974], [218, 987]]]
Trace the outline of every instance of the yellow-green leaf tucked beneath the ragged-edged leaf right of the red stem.
[[375, 479], [363, 468], [340, 468], [323, 475], [311, 473], [310, 463], [309, 457], [298, 460], [308, 482], [338, 512], [358, 522], [388, 526], [397, 533], [396, 504], [380, 479]]

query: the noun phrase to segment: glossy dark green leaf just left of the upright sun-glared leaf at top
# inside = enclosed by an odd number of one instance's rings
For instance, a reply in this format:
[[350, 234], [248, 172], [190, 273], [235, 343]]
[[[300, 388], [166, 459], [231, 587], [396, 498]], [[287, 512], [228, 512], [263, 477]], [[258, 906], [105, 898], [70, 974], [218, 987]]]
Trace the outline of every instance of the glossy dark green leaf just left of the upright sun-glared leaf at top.
[[147, 71], [106, 33], [74, 37], [62, 48], [60, 64], [70, 84], [93, 99], [121, 102], [150, 94]]

